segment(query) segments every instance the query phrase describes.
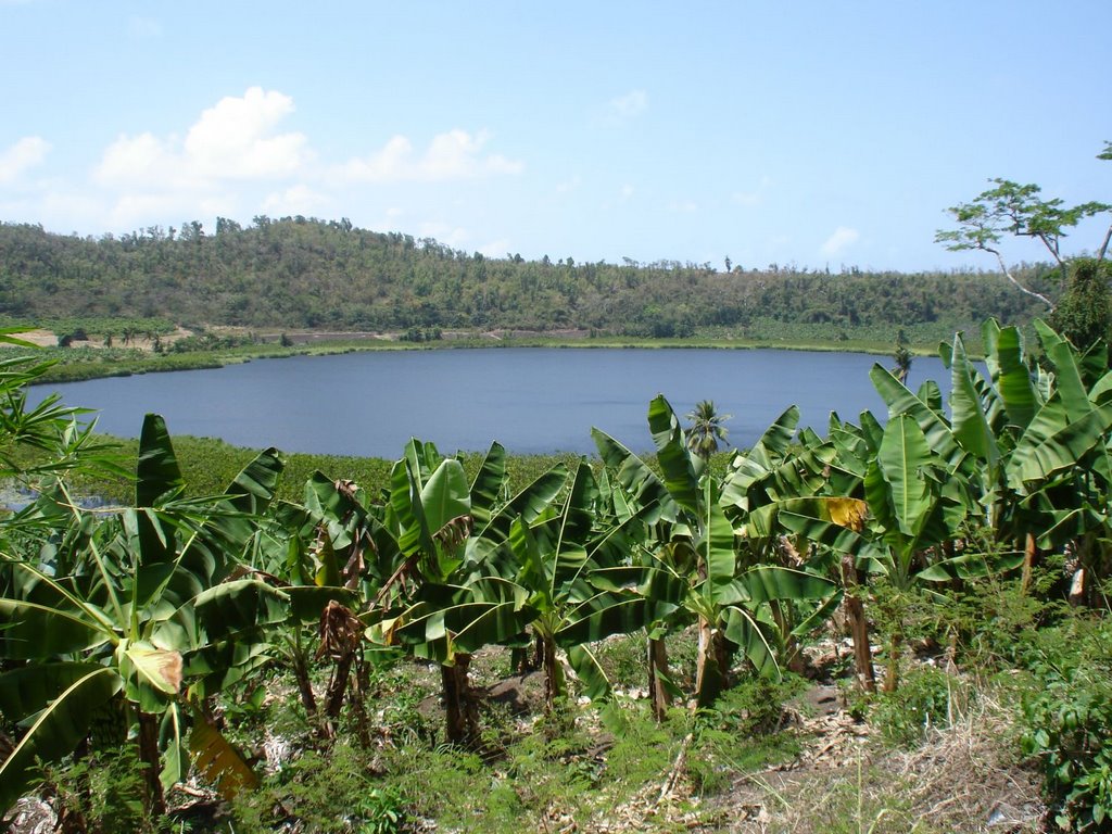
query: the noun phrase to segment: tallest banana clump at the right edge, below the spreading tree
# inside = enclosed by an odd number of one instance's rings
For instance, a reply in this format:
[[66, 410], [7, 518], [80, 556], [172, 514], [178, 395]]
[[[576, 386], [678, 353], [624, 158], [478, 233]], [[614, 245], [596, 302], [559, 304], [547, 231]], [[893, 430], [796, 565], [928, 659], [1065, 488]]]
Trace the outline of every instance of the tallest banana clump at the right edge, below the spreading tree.
[[941, 409], [903, 408], [906, 393], [880, 369], [873, 380], [890, 414], [915, 416], [932, 448], [969, 485], [981, 519], [1025, 552], [1025, 573], [1036, 546], [1069, 546], [1080, 554], [1082, 572], [1100, 570], [1092, 563], [1104, 558], [1112, 484], [1108, 349], [1099, 342], [1079, 351], [1043, 321], [1034, 327], [1041, 364], [1025, 356], [1016, 328], [985, 322], [986, 378], [966, 357], [961, 335], [942, 346], [951, 369], [949, 420]]

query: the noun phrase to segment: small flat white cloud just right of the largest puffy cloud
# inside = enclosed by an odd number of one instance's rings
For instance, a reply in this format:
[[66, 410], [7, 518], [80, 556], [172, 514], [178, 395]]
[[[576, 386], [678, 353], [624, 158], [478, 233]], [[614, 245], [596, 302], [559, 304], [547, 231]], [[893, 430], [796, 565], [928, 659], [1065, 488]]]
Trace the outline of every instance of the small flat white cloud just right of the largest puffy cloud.
[[340, 175], [361, 182], [444, 182], [524, 170], [522, 162], [498, 153], [484, 155], [483, 148], [489, 140], [490, 133], [485, 130], [473, 136], [457, 128], [433, 137], [424, 153], [418, 155], [413, 142], [399, 135], [381, 150], [350, 160]]

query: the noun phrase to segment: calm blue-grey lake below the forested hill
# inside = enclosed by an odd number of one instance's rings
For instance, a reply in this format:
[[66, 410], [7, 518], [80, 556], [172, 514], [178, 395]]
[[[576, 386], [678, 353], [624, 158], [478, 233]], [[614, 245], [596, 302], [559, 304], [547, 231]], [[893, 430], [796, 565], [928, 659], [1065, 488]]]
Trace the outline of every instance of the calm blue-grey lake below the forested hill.
[[[390, 350], [256, 359], [185, 370], [36, 386], [67, 405], [99, 410], [99, 427], [136, 437], [147, 411], [173, 435], [219, 437], [284, 451], [396, 458], [411, 436], [441, 451], [481, 450], [498, 440], [510, 451], [593, 454], [592, 427], [636, 451], [653, 448], [649, 400], [664, 394], [683, 416], [712, 399], [731, 446], [748, 446], [785, 408], [826, 434], [831, 410], [857, 421], [885, 408], [864, 354], [796, 350], [490, 348]], [[936, 358], [916, 358], [909, 385], [933, 378], [949, 390]]]

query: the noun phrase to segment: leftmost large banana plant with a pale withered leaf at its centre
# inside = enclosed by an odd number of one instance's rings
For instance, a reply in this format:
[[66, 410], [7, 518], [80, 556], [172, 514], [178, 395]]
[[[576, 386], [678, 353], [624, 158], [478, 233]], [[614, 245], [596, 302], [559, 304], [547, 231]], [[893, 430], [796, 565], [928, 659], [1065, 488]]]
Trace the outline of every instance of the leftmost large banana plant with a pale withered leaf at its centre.
[[99, 713], [122, 707], [147, 803], [162, 808], [163, 785], [188, 766], [186, 687], [220, 672], [206, 651], [287, 616], [281, 592], [232, 576], [247, 513], [270, 499], [280, 468], [268, 450], [225, 495], [186, 499], [165, 424], [148, 415], [135, 506], [83, 510], [59, 481], [21, 514], [48, 519], [56, 535], [33, 555], [0, 556], [0, 713], [24, 728], [0, 764], [0, 807], [27, 790], [37, 759], [72, 752]]

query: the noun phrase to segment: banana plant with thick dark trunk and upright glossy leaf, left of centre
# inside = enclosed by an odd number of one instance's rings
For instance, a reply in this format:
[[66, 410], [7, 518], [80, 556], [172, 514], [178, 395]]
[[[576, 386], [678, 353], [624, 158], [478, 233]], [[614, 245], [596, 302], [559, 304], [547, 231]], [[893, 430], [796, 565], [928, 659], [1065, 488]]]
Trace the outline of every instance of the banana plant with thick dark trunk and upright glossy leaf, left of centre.
[[566, 467], [557, 465], [500, 505], [506, 470], [499, 445], [468, 484], [458, 459], [417, 440], [391, 470], [383, 528], [397, 568], [379, 592], [368, 636], [440, 664], [451, 742], [478, 737], [469, 696], [471, 654], [522, 638], [536, 617], [526, 595], [492, 567], [490, 555], [506, 540], [514, 517], [534, 520], [549, 512], [566, 477]]

